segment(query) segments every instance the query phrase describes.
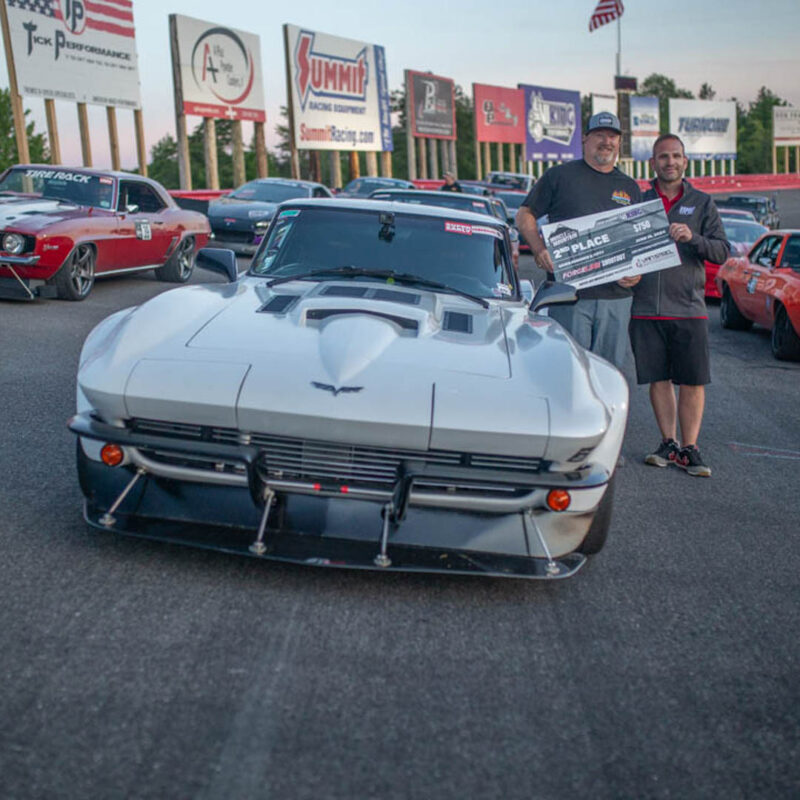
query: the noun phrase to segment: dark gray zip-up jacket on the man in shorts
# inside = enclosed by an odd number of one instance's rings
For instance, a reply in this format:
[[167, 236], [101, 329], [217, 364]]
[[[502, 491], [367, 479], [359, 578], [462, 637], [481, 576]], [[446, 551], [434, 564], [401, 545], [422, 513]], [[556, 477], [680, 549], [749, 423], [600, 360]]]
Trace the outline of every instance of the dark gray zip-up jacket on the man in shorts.
[[[642, 196], [658, 200], [655, 180]], [[692, 231], [689, 242], [678, 242], [678, 267], [642, 275], [633, 287], [631, 315], [642, 317], [705, 317], [706, 269], [704, 261], [722, 264], [731, 246], [725, 238], [722, 220], [714, 201], [705, 192], [683, 181], [683, 196], [667, 215], [670, 222], [681, 222]]]

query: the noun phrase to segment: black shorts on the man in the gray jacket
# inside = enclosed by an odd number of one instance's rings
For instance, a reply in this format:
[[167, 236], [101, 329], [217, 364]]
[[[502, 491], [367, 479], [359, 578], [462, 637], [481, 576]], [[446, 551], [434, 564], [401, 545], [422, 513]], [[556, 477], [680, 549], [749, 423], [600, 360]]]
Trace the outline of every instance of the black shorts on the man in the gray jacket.
[[711, 383], [707, 319], [631, 319], [638, 383]]

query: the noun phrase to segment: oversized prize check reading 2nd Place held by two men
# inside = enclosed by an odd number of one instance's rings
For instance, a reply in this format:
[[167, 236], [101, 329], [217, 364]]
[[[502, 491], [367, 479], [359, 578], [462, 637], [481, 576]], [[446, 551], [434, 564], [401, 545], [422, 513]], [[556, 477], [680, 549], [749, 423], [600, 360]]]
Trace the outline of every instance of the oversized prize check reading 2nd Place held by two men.
[[557, 281], [578, 289], [676, 267], [661, 200], [542, 226]]

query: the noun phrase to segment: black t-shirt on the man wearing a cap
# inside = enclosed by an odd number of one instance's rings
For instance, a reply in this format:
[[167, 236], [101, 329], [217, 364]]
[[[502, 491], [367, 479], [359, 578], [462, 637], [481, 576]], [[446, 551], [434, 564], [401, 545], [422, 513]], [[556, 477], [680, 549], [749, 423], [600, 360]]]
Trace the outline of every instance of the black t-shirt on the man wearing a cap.
[[[639, 184], [633, 178], [616, 167], [611, 172], [598, 172], [581, 159], [550, 167], [522, 204], [537, 220], [546, 214], [548, 222], [561, 222], [641, 201]], [[609, 300], [630, 294], [630, 289], [614, 282], [581, 289], [578, 297]]]

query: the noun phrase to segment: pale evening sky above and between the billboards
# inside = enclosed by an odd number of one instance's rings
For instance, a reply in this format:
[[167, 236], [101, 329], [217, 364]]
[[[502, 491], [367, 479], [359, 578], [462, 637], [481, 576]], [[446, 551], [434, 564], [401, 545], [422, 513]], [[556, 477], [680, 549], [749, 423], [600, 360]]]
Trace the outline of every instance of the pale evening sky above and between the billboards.
[[[62, 0], [63, 2], [63, 0]], [[617, 52], [616, 23], [589, 33], [596, 0], [134, 0], [142, 115], [148, 150], [167, 133], [175, 136], [168, 15], [183, 14], [257, 34], [267, 108], [267, 147], [279, 109], [286, 104], [282, 25], [383, 45], [389, 89], [400, 89], [403, 70], [431, 71], [453, 78], [471, 94], [472, 83], [516, 86], [528, 83], [572, 89], [582, 94], [613, 93]], [[254, 13], [254, 9], [256, 12]], [[640, 81], [653, 72], [695, 94], [704, 82], [717, 99], [747, 104], [761, 86], [800, 107], [800, 0], [625, 0], [622, 16], [622, 73]], [[8, 86], [5, 52], [0, 86]], [[36, 130], [47, 130], [44, 101], [23, 97]], [[81, 162], [74, 103], [57, 101], [62, 159]], [[136, 164], [133, 114], [117, 113], [123, 167]], [[92, 156], [109, 167], [111, 156], [105, 109], [89, 107]], [[200, 122], [188, 119], [189, 129]], [[252, 127], [244, 125], [245, 141]]]

